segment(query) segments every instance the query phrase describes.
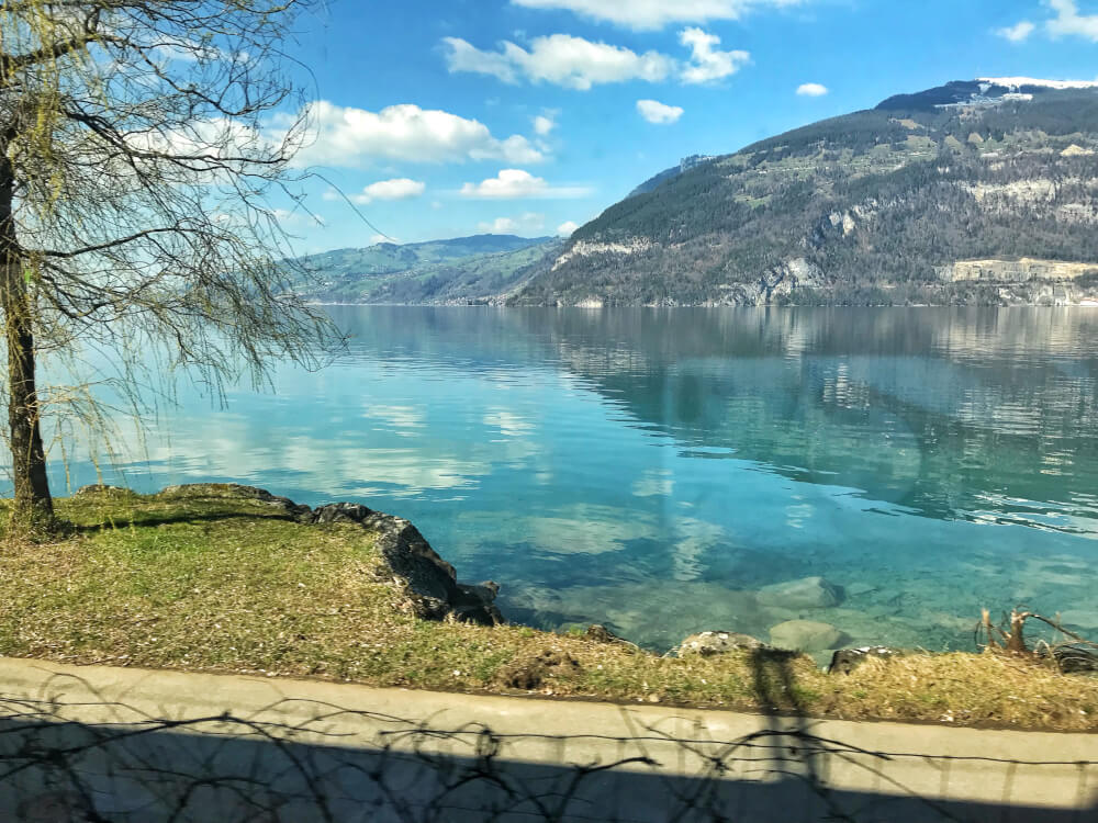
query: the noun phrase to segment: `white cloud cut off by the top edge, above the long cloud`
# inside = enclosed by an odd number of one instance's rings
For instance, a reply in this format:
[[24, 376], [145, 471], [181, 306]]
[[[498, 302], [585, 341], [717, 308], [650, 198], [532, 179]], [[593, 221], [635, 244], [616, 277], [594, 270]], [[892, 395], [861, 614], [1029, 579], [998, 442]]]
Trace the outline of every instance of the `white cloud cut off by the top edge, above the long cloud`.
[[636, 30], [671, 23], [739, 20], [761, 8], [798, 5], [800, 0], [511, 0], [528, 9], [564, 9]]

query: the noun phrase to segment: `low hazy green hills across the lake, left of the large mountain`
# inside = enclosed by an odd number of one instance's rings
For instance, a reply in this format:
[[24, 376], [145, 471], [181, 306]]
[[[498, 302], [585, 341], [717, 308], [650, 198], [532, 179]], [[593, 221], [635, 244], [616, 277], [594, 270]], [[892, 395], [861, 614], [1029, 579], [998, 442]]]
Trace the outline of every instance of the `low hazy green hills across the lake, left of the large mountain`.
[[337, 249], [299, 258], [302, 293], [322, 303], [470, 303], [505, 295], [562, 241], [477, 235]]

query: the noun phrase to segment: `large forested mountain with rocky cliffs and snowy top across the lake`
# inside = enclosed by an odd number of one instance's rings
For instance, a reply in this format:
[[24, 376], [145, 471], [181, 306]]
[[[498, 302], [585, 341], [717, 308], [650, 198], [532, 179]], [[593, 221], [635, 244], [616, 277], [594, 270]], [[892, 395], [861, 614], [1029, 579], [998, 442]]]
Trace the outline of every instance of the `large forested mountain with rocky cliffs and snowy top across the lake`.
[[1098, 298], [1098, 83], [954, 81], [664, 172], [526, 305]]

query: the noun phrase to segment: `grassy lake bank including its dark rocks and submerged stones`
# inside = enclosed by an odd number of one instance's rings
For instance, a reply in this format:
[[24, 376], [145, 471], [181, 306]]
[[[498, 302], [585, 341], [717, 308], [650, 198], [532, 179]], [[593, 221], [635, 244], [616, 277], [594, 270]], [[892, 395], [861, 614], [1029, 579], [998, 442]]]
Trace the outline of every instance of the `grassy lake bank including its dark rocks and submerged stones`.
[[[640, 646], [605, 600], [587, 604], [586, 621], [549, 624], [511, 596], [502, 606], [515, 622], [503, 621], [495, 584], [459, 582], [410, 522], [359, 504], [313, 508], [201, 484], [152, 495], [90, 487], [57, 507], [69, 533], [48, 546], [5, 546], [3, 656], [802, 717], [1098, 728], [1098, 679], [1086, 676], [1094, 644], [1078, 636], [1045, 649], [1034, 631], [1027, 651], [1015, 630], [1028, 612], [1010, 616], [1009, 636], [986, 625], [997, 639], [987, 653], [897, 654], [870, 645], [872, 633], [848, 619], [859, 613], [847, 607], [858, 605], [856, 580], [774, 584], [771, 575], [752, 589], [722, 589], [728, 602], [692, 602], [688, 583], [669, 580], [683, 615], [673, 630], [663, 625], [665, 644]], [[634, 602], [651, 622], [647, 597]], [[603, 616], [606, 625], [592, 625]], [[721, 627], [737, 631], [697, 631]], [[789, 649], [831, 644], [836, 633], [845, 647]], [[827, 663], [830, 673], [820, 669]]]

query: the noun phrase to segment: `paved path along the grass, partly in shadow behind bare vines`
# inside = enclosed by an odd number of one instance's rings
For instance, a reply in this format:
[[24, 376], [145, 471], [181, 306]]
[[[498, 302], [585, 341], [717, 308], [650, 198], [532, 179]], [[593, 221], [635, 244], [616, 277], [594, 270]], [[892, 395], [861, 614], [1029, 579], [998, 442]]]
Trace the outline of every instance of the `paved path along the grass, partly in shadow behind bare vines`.
[[0, 658], [0, 820], [837, 819], [1098, 821], [1098, 735]]

